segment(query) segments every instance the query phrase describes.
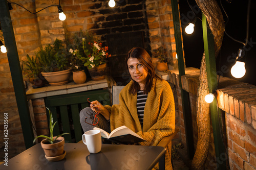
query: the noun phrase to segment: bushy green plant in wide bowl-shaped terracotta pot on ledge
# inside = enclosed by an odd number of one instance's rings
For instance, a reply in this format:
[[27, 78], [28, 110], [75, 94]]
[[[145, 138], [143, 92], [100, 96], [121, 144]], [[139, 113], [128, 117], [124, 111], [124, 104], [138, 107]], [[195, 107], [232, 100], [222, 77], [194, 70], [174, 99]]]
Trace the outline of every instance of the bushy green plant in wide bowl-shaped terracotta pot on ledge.
[[45, 48], [41, 48], [36, 56], [38, 56], [43, 70], [41, 74], [50, 85], [57, 86], [69, 82], [70, 59], [61, 40], [56, 39], [53, 46], [48, 44]]

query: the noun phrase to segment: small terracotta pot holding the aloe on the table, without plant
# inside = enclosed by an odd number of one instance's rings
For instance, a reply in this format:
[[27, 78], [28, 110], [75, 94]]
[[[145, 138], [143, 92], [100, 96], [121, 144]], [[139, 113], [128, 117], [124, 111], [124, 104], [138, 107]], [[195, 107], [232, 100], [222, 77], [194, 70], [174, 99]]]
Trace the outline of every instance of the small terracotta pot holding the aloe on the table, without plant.
[[[54, 139], [56, 136], [53, 137]], [[47, 157], [56, 157], [63, 154], [64, 151], [64, 137], [60, 136], [57, 138], [58, 142], [51, 144], [46, 139], [41, 141], [41, 147], [44, 149]]]

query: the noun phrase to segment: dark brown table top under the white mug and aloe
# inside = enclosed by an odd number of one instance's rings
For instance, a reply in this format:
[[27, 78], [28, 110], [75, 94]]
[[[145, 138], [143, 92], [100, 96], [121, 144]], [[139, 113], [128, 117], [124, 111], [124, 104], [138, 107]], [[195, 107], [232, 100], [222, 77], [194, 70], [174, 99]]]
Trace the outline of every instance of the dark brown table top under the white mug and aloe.
[[64, 159], [50, 162], [40, 143], [8, 160], [0, 169], [152, 169], [164, 155], [163, 147], [102, 144], [101, 152], [90, 154], [83, 143], [65, 143]]

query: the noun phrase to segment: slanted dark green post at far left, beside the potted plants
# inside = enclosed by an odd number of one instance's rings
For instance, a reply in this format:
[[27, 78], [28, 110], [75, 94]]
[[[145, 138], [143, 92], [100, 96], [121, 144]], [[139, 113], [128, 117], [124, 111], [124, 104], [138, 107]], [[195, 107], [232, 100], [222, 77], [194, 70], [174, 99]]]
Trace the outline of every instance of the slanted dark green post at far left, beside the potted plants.
[[28, 149], [33, 146], [34, 134], [7, 1], [0, 1], [0, 21], [7, 48], [7, 57], [11, 70], [19, 119], [22, 124], [26, 149]]

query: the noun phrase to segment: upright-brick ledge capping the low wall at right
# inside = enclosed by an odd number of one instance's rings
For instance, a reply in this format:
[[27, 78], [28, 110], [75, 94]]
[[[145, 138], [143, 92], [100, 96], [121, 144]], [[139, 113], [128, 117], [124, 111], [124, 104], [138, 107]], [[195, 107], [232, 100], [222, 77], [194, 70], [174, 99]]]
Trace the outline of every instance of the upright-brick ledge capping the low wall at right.
[[[169, 70], [168, 73], [161, 74], [157, 72], [157, 74], [164, 80], [180, 86], [178, 70]], [[182, 89], [197, 95], [200, 69], [185, 68], [185, 74], [181, 76]], [[256, 129], [256, 86], [220, 76], [216, 98], [220, 109]]]

